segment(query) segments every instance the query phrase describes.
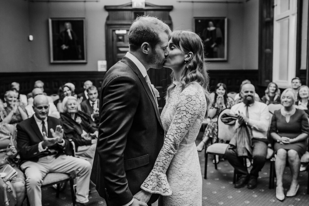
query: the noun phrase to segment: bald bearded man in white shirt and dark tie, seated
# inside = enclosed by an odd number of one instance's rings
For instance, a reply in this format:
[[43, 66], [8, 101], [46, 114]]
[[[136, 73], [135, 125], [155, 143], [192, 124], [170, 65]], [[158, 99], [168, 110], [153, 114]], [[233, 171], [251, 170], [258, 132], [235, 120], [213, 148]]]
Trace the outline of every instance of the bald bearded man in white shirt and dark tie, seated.
[[240, 179], [235, 183], [235, 188], [244, 187], [247, 183], [249, 189], [257, 186], [259, 171], [266, 162], [267, 131], [269, 128], [269, 110], [265, 103], [254, 100], [255, 87], [252, 84], [244, 84], [241, 88], [243, 101], [231, 107], [231, 114], [238, 115], [235, 128], [241, 124], [247, 124], [252, 129], [252, 169], [250, 174], [244, 165], [243, 157], [237, 155], [237, 148], [229, 145], [225, 152], [225, 158], [235, 168]]

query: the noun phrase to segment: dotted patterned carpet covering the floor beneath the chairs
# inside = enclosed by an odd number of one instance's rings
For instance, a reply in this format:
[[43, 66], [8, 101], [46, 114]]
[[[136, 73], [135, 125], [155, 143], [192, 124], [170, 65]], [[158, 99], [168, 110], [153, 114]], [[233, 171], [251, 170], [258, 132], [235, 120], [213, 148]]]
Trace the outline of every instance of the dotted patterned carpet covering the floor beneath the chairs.
[[[200, 132], [196, 143], [201, 141], [202, 133]], [[204, 176], [204, 152], [199, 153], [201, 163], [201, 173]], [[295, 197], [286, 198], [282, 202], [275, 197], [275, 189], [268, 189], [269, 186], [269, 161], [266, 162], [263, 170], [260, 172], [257, 188], [250, 190], [247, 187], [240, 189], [234, 188], [233, 180], [233, 167], [225, 160], [218, 164], [218, 170], [214, 169], [212, 163], [213, 156], [209, 156], [208, 160], [208, 179], [203, 179], [203, 206], [298, 206], [309, 205], [309, 195], [307, 195], [307, 177], [308, 172], [301, 172], [299, 177], [300, 188]], [[250, 169], [250, 168], [249, 168]], [[285, 193], [289, 188], [290, 183], [290, 170], [288, 167], [285, 169], [284, 174], [284, 188]], [[93, 188], [91, 188], [93, 191]], [[56, 198], [56, 192], [52, 188], [44, 188], [42, 191], [43, 206], [69, 206], [72, 205], [70, 188], [69, 186]], [[27, 204], [23, 204], [26, 206]], [[89, 195], [89, 202], [87, 205], [91, 206], [105, 206], [105, 201], [99, 197], [96, 191]], [[153, 204], [157, 206], [157, 204]], [[194, 205], [193, 205], [194, 206]]]

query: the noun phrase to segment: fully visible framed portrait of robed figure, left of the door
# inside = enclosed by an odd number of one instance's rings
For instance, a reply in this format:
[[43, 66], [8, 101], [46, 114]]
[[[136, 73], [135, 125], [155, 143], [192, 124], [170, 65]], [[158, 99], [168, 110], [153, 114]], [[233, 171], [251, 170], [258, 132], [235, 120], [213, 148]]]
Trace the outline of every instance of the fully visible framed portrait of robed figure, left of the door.
[[50, 63], [87, 63], [85, 18], [49, 18]]

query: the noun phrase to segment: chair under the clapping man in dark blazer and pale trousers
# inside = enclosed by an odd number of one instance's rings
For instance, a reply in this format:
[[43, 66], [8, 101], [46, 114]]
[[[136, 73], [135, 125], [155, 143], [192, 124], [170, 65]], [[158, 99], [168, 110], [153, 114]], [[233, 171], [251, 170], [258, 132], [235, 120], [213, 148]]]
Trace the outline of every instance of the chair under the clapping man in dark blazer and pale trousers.
[[[71, 150], [72, 150], [71, 152], [73, 154], [72, 156], [75, 156], [75, 144], [74, 144], [73, 141], [70, 141], [70, 143], [71, 143], [71, 146], [72, 146], [72, 148], [71, 148]], [[75, 203], [76, 203], [75, 174], [73, 174], [73, 173], [50, 172], [44, 177], [41, 188], [55, 187], [55, 185], [57, 185], [56, 186], [56, 197], [59, 198], [61, 184], [66, 183], [68, 181], [70, 182], [72, 204], [73, 204], [73, 206], [75, 206]], [[27, 204], [28, 204], [28, 206], [30, 205], [28, 196], [27, 196]]]

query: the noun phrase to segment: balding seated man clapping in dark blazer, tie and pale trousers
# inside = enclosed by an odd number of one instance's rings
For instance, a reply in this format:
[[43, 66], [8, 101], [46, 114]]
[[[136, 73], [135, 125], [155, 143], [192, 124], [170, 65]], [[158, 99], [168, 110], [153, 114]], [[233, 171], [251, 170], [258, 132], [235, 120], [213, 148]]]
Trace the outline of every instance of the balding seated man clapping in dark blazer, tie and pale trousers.
[[41, 184], [49, 172], [76, 172], [76, 204], [88, 202], [91, 165], [88, 161], [67, 155], [69, 141], [63, 138], [61, 121], [47, 116], [49, 103], [45, 95], [33, 100], [35, 114], [17, 124], [17, 147], [20, 168], [26, 175], [30, 205], [42, 205]]

